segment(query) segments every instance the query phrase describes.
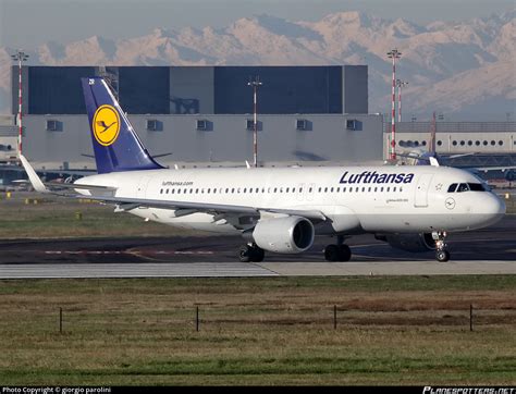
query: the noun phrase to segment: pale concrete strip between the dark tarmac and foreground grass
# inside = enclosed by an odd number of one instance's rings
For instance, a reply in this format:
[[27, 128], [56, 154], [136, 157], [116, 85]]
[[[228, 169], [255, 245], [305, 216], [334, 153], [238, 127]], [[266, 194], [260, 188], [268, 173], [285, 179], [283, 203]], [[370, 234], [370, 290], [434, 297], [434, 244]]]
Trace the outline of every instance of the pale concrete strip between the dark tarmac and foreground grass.
[[515, 261], [0, 264], [0, 279], [516, 274]]

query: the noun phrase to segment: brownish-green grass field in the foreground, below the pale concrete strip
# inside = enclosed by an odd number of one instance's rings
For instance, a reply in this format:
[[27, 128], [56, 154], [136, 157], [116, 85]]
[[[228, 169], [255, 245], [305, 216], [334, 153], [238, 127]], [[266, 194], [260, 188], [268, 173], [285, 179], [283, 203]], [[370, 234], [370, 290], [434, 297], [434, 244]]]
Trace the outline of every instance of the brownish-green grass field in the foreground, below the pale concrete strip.
[[0, 281], [0, 381], [514, 385], [515, 288], [516, 275]]

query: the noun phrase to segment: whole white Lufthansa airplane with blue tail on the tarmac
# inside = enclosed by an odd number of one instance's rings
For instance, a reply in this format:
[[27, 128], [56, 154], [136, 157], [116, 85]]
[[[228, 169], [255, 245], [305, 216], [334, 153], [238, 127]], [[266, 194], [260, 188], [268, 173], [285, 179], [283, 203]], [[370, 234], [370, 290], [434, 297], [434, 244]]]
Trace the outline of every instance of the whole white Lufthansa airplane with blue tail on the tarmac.
[[447, 261], [449, 233], [491, 225], [505, 213], [481, 180], [445, 167], [165, 169], [103, 78], [82, 78], [82, 87], [98, 174], [45, 184], [20, 156], [33, 187], [87, 196], [147, 221], [242, 236], [243, 262], [260, 262], [266, 251], [300, 254], [316, 235], [336, 237], [325, 260], [348, 261], [345, 239], [364, 233], [404, 250], [433, 249]]

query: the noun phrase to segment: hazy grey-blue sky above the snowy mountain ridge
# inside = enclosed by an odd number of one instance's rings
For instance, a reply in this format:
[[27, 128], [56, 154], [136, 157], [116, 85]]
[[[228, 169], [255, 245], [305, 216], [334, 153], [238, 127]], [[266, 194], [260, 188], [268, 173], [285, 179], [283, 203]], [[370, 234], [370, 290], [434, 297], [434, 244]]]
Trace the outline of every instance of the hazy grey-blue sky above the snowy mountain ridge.
[[317, 21], [365, 11], [419, 24], [463, 21], [508, 11], [516, 0], [0, 0], [0, 46], [34, 49], [94, 35], [130, 38], [156, 27], [223, 27], [256, 14]]

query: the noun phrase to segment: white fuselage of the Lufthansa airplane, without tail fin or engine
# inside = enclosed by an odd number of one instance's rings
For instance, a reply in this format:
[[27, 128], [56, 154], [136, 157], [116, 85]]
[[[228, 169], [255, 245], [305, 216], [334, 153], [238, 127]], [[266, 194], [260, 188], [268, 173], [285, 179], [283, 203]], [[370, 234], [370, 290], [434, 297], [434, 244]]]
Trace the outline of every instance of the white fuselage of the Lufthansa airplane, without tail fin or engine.
[[[443, 167], [226, 168], [115, 172], [77, 184], [115, 187], [116, 197], [319, 211], [317, 234], [466, 231], [505, 212], [491, 192], [450, 193], [452, 184], [480, 184]], [[78, 193], [89, 194], [82, 189]], [[242, 216], [138, 207], [131, 213], [175, 226], [239, 234]], [[261, 216], [267, 213], [262, 213]]]

